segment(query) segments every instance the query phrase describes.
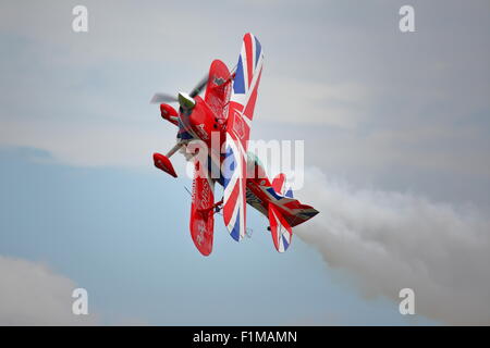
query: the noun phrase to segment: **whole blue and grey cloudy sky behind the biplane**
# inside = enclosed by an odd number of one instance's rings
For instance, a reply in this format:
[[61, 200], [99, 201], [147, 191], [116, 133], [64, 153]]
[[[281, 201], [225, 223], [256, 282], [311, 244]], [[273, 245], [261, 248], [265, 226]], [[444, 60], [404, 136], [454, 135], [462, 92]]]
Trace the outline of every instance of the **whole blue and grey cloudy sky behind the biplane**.
[[[399, 29], [407, 3], [415, 33]], [[88, 33], [72, 30], [77, 4], [88, 9]], [[488, 1], [2, 1], [0, 324], [473, 323], [471, 312], [462, 321], [432, 308], [402, 316], [393, 288], [371, 284], [394, 279], [377, 269], [393, 259], [373, 262], [357, 239], [342, 254], [322, 244], [344, 247], [323, 238], [335, 235], [328, 217], [366, 239], [403, 233], [391, 244], [409, 246], [391, 256], [407, 261], [400, 272], [417, 246], [462, 250], [430, 217], [436, 211], [457, 236], [485, 241], [468, 244], [462, 259], [490, 254], [489, 10]], [[265, 51], [252, 138], [305, 140], [305, 165], [329, 181], [311, 175], [320, 197], [308, 188], [297, 196], [327, 210], [284, 254], [258, 213], [248, 210], [254, 234], [240, 244], [217, 220], [213, 253], [203, 258], [188, 233], [189, 179], [152, 166], [152, 152], [170, 149], [176, 132], [149, 99], [189, 90], [213, 59], [234, 66], [247, 32]], [[184, 172], [183, 158], [173, 163]], [[332, 190], [332, 181], [353, 189]], [[334, 215], [339, 204], [323, 191], [351, 206]], [[389, 192], [384, 203], [373, 192]], [[424, 209], [406, 210], [427, 222], [413, 240], [403, 214], [394, 224], [369, 220], [420, 199]], [[366, 210], [372, 204], [380, 210]], [[379, 278], [347, 258], [356, 250]], [[453, 289], [464, 274], [489, 288], [487, 259], [464, 264], [439, 251], [416, 254], [427, 274], [444, 271], [436, 289]], [[72, 315], [75, 287], [88, 290], [89, 315]], [[483, 307], [476, 323], [489, 313]]]

